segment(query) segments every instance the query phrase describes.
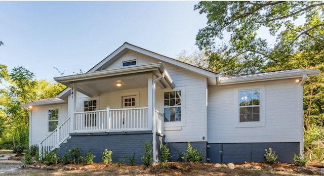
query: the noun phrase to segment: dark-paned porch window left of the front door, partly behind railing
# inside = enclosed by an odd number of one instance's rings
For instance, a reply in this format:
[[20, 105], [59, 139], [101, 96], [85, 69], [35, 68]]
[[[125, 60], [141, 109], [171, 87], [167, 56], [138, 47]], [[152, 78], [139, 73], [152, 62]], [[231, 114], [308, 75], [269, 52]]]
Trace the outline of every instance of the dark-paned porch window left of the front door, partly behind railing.
[[[84, 111], [96, 111], [97, 110], [97, 100], [84, 101]], [[97, 114], [89, 113], [85, 115], [85, 126], [96, 126], [97, 124]]]

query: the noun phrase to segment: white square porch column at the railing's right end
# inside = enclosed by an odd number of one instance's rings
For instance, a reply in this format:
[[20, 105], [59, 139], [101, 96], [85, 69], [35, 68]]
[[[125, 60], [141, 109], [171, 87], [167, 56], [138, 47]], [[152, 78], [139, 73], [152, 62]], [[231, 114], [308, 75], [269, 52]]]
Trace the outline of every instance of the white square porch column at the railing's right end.
[[152, 114], [153, 114], [153, 74], [148, 73], [148, 84], [147, 84], [147, 98], [148, 98], [148, 111], [147, 111], [147, 127], [152, 129]]

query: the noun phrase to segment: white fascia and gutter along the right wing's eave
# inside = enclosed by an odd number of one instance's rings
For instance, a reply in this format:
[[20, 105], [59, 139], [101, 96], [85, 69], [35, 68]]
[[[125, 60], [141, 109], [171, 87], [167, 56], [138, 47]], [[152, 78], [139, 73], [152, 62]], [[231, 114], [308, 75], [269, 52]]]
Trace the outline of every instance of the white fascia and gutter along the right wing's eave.
[[228, 79], [227, 77], [221, 77], [220, 81], [218, 82], [218, 85], [297, 78], [297, 77], [303, 77], [304, 74], [306, 74], [307, 76], [315, 76], [318, 75], [319, 72], [320, 72], [319, 70], [304, 69], [298, 72], [286, 72], [286, 73], [284, 72], [284, 73], [249, 76], [249, 77], [237, 77], [237, 78], [228, 78]]

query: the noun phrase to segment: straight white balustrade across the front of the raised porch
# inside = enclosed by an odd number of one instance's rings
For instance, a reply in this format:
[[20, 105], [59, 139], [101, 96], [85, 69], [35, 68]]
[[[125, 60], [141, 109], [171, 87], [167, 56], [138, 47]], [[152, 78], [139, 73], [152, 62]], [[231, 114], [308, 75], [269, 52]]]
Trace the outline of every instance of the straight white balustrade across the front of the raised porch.
[[75, 133], [147, 130], [148, 108], [75, 112], [74, 124]]

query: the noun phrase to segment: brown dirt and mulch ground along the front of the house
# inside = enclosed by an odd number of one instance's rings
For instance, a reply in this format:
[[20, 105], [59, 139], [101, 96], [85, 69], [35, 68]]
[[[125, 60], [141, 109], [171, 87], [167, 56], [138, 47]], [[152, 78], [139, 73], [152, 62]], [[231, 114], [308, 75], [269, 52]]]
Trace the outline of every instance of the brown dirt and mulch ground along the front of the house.
[[[41, 163], [38, 163], [41, 165]], [[249, 163], [251, 165], [258, 165], [264, 168], [265, 163]], [[144, 169], [143, 165], [131, 166], [129, 164], [113, 163], [109, 166], [105, 166], [103, 163], [94, 163], [92, 165], [73, 165], [73, 164], [57, 164], [58, 168], [64, 166], [75, 167], [76, 170], [42, 170], [31, 168], [20, 168], [16, 171], [0, 173], [0, 175], [298, 175], [294, 170], [298, 170], [298, 167], [294, 164], [274, 164], [273, 168], [284, 167], [285, 171], [261, 171], [255, 169], [228, 169], [228, 168], [216, 168], [213, 163], [199, 163], [199, 162], [169, 162], [165, 168], [159, 168], [158, 166], [151, 166]], [[135, 169], [139, 169], [140, 172], [136, 173]], [[128, 172], [129, 171], [129, 172]]]

